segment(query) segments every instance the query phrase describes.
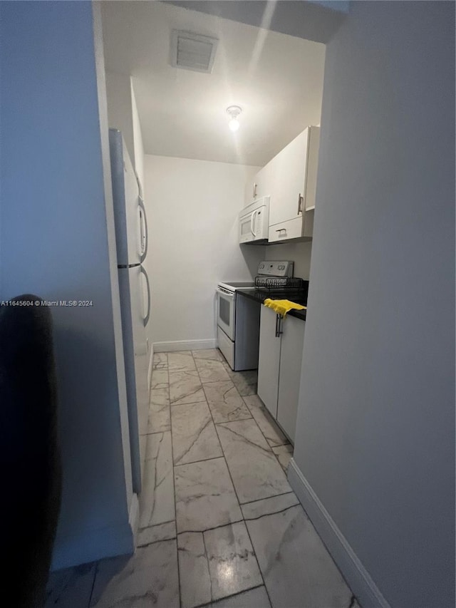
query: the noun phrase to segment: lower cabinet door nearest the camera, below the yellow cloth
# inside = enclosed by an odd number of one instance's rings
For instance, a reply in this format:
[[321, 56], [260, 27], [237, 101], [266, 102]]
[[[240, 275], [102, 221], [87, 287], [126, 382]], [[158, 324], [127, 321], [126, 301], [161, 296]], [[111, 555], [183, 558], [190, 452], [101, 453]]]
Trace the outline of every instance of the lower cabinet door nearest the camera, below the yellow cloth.
[[294, 443], [301, 383], [302, 349], [306, 321], [286, 316], [282, 321], [277, 420]]

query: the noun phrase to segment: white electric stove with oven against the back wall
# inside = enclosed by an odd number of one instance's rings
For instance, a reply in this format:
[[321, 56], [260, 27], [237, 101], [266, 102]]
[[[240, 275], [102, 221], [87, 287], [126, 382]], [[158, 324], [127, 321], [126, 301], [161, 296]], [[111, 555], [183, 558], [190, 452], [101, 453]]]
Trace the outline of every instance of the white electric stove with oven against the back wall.
[[[293, 269], [294, 262], [260, 262], [257, 283], [266, 277], [292, 277]], [[237, 296], [238, 289], [254, 290], [257, 287], [254, 282], [237, 281], [217, 285], [217, 346], [234, 371], [257, 369], [261, 301]]]

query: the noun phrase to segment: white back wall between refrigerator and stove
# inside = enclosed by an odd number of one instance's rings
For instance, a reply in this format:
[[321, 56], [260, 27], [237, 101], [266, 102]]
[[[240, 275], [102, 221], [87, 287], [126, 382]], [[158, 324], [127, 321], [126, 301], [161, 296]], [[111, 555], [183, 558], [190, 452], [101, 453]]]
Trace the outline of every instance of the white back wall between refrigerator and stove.
[[154, 343], [214, 340], [221, 280], [252, 280], [264, 247], [239, 247], [237, 215], [258, 167], [145, 156]]

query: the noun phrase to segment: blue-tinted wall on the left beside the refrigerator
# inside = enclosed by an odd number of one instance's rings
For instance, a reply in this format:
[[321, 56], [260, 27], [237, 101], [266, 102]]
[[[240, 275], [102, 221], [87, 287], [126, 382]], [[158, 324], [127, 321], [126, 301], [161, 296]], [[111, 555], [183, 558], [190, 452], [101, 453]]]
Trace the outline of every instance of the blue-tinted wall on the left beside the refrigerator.
[[93, 302], [52, 309], [63, 452], [53, 565], [63, 567], [133, 548], [103, 56], [98, 30], [95, 67], [91, 3], [2, 2], [0, 12], [0, 299]]

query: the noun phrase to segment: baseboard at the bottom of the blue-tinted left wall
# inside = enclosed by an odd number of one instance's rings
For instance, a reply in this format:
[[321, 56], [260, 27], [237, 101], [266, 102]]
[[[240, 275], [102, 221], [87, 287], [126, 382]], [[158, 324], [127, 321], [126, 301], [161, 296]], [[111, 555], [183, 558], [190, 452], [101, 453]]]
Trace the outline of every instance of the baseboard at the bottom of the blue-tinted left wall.
[[86, 530], [56, 539], [51, 571], [103, 560], [104, 557], [131, 555], [134, 551], [135, 540], [130, 522]]

